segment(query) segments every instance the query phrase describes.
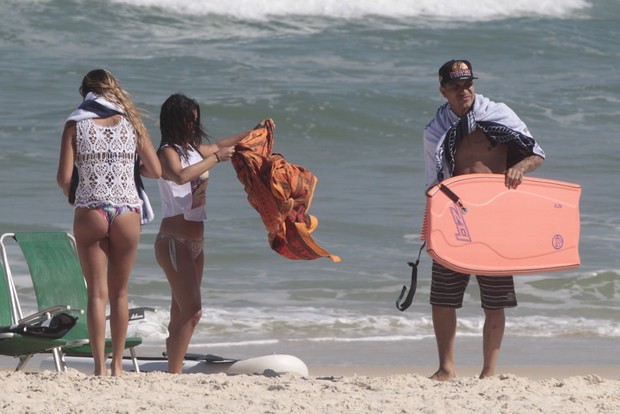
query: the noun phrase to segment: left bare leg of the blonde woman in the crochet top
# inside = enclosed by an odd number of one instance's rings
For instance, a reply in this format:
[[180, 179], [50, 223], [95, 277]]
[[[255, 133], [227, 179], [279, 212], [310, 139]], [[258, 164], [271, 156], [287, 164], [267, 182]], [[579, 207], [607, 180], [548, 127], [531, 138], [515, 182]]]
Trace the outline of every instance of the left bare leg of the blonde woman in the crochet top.
[[96, 210], [78, 208], [73, 221], [78, 257], [88, 286], [87, 322], [95, 375], [105, 375], [105, 327], [108, 301], [108, 222]]

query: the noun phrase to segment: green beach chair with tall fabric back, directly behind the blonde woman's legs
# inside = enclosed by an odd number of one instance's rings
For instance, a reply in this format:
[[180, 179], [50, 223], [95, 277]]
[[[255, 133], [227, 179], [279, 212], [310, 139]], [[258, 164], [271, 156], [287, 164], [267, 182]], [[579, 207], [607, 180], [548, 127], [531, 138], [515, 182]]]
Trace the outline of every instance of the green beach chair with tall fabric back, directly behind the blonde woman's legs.
[[[75, 239], [65, 232], [16, 232], [6, 233], [0, 238], [4, 249], [6, 238], [12, 238], [19, 245], [32, 279], [39, 310], [64, 303], [72, 308], [87, 309], [86, 281], [75, 250]], [[144, 317], [144, 308], [131, 309], [131, 315]], [[89, 345], [86, 311], [75, 327], [65, 335], [67, 341], [62, 347], [61, 364], [66, 368], [64, 356], [92, 357]], [[140, 372], [135, 347], [142, 338], [127, 338], [125, 349], [129, 349], [135, 372]], [[112, 339], [106, 338], [105, 350], [112, 353]], [[56, 359], [57, 356], [54, 355]]]

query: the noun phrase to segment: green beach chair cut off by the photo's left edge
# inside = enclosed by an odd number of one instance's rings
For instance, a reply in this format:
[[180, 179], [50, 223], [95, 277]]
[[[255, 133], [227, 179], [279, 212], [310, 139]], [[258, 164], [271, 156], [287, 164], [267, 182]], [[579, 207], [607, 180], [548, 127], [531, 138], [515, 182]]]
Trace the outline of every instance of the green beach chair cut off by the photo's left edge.
[[[3, 252], [4, 253], [4, 252]], [[45, 312], [38, 312], [27, 318], [18, 318], [14, 290], [5, 269], [4, 254], [0, 262], [0, 355], [19, 358], [15, 371], [20, 371], [36, 354], [52, 352], [60, 356], [60, 348], [67, 344], [64, 339], [42, 338], [20, 333], [19, 326], [33, 324], [50, 319], [56, 311], [65, 311], [64, 307], [55, 307]], [[56, 363], [56, 370], [62, 367]]]

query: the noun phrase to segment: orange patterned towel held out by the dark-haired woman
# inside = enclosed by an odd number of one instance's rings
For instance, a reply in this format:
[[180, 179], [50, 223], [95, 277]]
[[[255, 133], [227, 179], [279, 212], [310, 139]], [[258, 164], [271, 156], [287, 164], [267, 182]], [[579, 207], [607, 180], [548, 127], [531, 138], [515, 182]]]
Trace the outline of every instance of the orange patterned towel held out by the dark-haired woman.
[[310, 236], [318, 225], [308, 214], [317, 178], [306, 168], [272, 153], [273, 129], [253, 130], [235, 147], [232, 164], [245, 186], [250, 205], [260, 214], [269, 233], [269, 245], [293, 260], [340, 258], [321, 248]]

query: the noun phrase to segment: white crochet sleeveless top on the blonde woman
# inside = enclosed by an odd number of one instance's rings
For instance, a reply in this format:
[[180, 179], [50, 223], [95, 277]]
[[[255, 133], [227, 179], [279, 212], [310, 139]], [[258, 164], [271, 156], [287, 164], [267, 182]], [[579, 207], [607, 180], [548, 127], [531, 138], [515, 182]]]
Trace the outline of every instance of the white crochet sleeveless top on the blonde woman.
[[75, 207], [109, 203], [141, 207], [134, 181], [137, 138], [133, 125], [121, 117], [113, 126], [92, 119], [76, 123], [76, 160], [79, 183]]

